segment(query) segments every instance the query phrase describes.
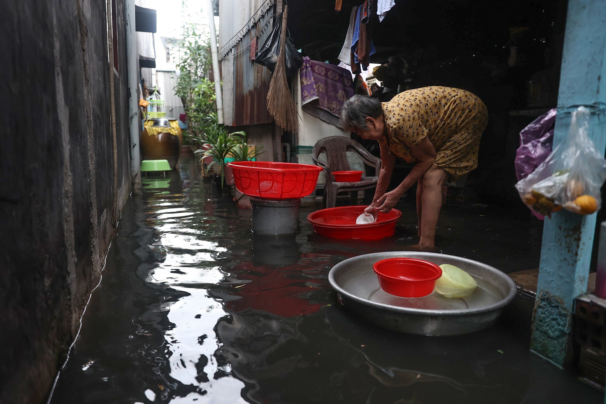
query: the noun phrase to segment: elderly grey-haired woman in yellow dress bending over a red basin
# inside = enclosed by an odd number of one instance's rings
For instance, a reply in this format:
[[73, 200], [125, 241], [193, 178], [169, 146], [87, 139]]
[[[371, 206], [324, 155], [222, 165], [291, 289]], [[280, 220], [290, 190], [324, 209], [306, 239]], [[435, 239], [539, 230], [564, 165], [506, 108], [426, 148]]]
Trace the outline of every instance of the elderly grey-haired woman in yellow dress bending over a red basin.
[[[341, 124], [364, 139], [379, 141], [381, 172], [365, 213], [388, 212], [415, 182], [421, 250], [435, 249], [442, 185], [478, 166], [480, 137], [488, 121], [484, 102], [458, 88], [424, 87], [399, 93], [390, 102], [355, 95], [342, 107]], [[387, 191], [396, 157], [415, 164]]]

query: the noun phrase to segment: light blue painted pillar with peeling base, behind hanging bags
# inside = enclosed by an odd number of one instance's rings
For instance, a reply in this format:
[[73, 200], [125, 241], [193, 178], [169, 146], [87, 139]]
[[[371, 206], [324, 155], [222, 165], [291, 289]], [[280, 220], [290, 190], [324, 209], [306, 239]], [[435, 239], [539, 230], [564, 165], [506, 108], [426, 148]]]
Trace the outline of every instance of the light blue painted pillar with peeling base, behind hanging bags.
[[[605, 83], [606, 1], [569, 0], [554, 146], [567, 136], [569, 107], [587, 105], [590, 137], [604, 152]], [[531, 350], [560, 367], [567, 356], [573, 301], [587, 291], [595, 227], [596, 214], [562, 210], [545, 219]]]

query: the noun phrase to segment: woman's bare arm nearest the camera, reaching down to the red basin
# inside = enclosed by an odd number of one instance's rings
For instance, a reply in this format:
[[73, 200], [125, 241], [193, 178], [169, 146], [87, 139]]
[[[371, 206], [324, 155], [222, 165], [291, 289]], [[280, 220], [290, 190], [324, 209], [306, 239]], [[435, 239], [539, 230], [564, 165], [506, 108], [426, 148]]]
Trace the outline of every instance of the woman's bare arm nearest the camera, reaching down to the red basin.
[[[417, 182], [425, 173], [427, 173], [427, 170], [431, 168], [431, 165], [436, 159], [436, 149], [433, 147], [430, 140], [427, 139], [427, 136], [421, 139], [421, 141], [415, 147], [413, 147], [411, 151], [419, 162], [415, 164], [415, 167], [413, 167], [410, 173], [406, 176], [402, 183], [395, 188], [395, 190], [384, 193], [384, 195], [376, 201], [376, 204], [379, 205], [377, 210], [387, 213], [391, 210], [391, 208], [395, 207], [396, 202], [398, 202], [400, 197], [402, 197], [402, 195], [408, 191], [408, 188], [412, 187], [415, 182]], [[393, 170], [393, 164], [391, 166], [391, 170]], [[381, 177], [379, 177], [379, 180], [381, 180]], [[385, 187], [385, 189], [387, 189], [387, 187]], [[378, 190], [379, 186], [377, 185], [377, 191]], [[373, 201], [373, 205], [376, 204]]]

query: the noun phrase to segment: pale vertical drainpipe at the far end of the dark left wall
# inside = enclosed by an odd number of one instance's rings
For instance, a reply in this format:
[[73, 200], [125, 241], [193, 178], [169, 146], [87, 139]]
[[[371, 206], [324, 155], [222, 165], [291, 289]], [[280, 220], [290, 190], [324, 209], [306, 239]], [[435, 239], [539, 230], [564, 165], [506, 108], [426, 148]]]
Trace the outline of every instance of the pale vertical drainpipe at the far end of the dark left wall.
[[130, 128], [130, 179], [133, 191], [141, 187], [141, 155], [139, 154], [139, 84], [137, 69], [137, 37], [135, 32], [135, 0], [126, 0], [126, 67], [128, 79], [128, 127]]

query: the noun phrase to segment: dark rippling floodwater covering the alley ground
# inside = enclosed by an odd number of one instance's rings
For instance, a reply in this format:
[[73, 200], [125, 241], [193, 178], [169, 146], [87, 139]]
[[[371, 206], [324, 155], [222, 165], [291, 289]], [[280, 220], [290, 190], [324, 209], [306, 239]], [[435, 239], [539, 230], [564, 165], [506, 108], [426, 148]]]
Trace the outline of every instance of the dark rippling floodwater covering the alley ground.
[[[253, 238], [251, 212], [187, 159], [143, 187], [125, 208], [53, 404], [603, 402], [530, 353], [528, 297], [492, 328], [458, 337], [376, 329], [339, 306], [330, 268], [416, 243], [411, 200], [390, 239], [325, 239], [302, 208], [296, 237], [273, 240]], [[445, 207], [438, 243], [526, 270], [538, 267], [541, 224]]]

